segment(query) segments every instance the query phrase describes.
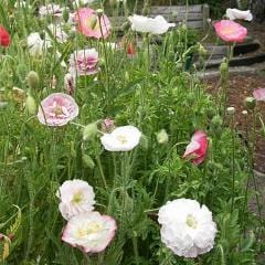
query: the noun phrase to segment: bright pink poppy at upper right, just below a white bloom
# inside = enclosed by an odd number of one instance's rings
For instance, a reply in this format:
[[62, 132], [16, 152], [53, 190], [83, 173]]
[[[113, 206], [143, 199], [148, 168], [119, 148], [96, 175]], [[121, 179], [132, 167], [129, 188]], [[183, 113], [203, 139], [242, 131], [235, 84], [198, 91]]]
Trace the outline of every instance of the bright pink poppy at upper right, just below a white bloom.
[[221, 20], [214, 24], [216, 34], [225, 42], [243, 42], [247, 29], [231, 20]]

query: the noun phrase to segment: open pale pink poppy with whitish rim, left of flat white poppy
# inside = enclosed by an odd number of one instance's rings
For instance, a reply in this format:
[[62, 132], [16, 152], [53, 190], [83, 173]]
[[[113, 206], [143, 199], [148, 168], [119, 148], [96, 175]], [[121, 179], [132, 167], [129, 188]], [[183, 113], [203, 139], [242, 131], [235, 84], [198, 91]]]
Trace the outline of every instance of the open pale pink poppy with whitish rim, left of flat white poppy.
[[38, 118], [47, 126], [63, 126], [78, 116], [74, 98], [63, 93], [53, 93], [41, 102]]

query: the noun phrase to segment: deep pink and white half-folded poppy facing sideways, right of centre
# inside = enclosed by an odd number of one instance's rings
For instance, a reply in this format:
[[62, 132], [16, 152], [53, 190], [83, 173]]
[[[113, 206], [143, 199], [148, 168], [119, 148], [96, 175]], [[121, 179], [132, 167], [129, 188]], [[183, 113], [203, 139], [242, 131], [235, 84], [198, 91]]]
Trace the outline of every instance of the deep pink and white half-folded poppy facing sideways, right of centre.
[[183, 158], [191, 159], [194, 165], [204, 161], [208, 150], [208, 137], [202, 130], [197, 130], [191, 138], [191, 142], [187, 146]]

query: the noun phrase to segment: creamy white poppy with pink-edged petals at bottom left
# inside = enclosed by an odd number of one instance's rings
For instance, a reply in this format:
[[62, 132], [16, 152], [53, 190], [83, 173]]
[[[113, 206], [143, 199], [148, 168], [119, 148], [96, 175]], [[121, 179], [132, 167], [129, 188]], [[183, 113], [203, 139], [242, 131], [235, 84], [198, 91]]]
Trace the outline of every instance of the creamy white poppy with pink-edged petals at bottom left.
[[115, 220], [108, 215], [82, 213], [68, 221], [62, 241], [85, 253], [99, 253], [108, 246], [116, 230]]

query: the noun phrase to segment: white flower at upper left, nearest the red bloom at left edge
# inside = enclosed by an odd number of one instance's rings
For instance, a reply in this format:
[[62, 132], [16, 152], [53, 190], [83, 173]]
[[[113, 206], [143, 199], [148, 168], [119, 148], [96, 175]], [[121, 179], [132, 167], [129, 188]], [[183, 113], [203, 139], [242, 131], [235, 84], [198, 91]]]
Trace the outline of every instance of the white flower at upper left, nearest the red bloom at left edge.
[[32, 56], [42, 55], [43, 51], [51, 46], [51, 42], [49, 40], [42, 40], [38, 32], [31, 33], [28, 36], [26, 43], [29, 46], [29, 53]]

